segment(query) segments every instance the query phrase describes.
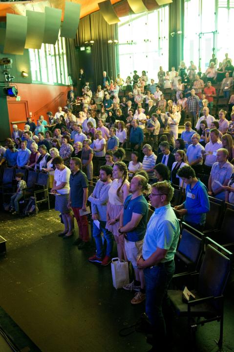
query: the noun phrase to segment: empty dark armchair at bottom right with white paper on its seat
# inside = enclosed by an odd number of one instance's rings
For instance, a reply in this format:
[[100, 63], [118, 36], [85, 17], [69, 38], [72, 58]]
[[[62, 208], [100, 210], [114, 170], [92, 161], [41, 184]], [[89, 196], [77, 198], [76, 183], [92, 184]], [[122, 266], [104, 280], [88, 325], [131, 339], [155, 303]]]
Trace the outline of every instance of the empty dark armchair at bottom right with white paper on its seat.
[[[168, 296], [176, 315], [187, 317], [192, 339], [195, 337], [197, 326], [219, 321], [218, 347], [221, 349], [223, 344], [223, 292], [230, 274], [232, 253], [217, 243], [216, 245], [219, 250], [208, 244], [199, 272], [178, 274], [173, 277], [175, 281], [184, 276], [187, 279], [186, 286], [195, 295], [195, 299], [185, 303], [182, 300], [182, 290], [168, 290]], [[191, 343], [194, 345], [194, 341]]]

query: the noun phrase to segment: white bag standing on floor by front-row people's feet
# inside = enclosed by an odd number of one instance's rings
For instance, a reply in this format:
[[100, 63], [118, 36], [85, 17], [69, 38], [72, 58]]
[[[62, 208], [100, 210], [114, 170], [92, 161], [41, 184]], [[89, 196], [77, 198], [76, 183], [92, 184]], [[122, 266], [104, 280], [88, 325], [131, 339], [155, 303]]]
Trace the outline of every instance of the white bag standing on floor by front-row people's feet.
[[119, 258], [112, 258], [111, 260], [111, 273], [113, 286], [121, 288], [129, 284], [128, 263], [119, 260]]

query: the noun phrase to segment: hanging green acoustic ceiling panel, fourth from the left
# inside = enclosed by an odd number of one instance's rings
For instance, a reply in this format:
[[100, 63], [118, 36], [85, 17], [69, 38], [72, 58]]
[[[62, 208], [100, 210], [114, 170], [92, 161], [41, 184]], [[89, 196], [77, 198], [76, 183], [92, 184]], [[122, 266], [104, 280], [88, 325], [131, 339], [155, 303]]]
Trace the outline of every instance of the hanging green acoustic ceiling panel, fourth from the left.
[[80, 21], [81, 5], [75, 2], [65, 2], [64, 22], [61, 37], [75, 38]]

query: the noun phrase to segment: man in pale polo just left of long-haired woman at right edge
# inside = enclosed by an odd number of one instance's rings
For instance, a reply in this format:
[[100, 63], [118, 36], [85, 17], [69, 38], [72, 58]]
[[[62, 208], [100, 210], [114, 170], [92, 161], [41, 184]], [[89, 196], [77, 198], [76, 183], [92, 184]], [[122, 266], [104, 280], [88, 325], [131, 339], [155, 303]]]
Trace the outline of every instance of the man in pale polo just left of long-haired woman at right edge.
[[217, 161], [217, 150], [220, 148], [222, 148], [222, 142], [219, 139], [219, 132], [217, 129], [213, 129], [210, 133], [210, 142], [205, 145], [205, 151], [202, 152], [206, 175], [210, 175], [212, 166]]

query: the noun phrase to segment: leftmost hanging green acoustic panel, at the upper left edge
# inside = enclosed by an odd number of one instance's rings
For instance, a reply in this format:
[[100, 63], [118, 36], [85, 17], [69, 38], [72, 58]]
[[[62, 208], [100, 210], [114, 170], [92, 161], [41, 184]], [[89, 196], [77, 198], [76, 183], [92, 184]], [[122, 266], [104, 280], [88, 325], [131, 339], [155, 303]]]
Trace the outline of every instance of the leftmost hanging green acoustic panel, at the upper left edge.
[[6, 38], [3, 53], [22, 55], [27, 34], [27, 17], [6, 14]]

